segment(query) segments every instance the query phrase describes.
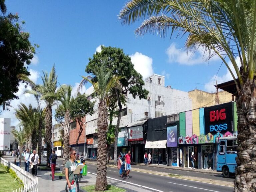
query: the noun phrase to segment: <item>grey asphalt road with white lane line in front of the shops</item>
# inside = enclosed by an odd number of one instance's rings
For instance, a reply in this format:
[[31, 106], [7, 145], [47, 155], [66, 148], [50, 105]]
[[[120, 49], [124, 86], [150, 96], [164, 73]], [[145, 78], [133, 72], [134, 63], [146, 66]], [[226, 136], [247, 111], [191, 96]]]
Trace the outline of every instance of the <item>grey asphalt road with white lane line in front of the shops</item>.
[[[62, 165], [62, 159], [57, 160], [57, 164]], [[135, 167], [135, 166], [133, 166]], [[145, 168], [144, 166], [138, 166], [138, 168]], [[146, 167], [147, 168], [147, 167]], [[159, 171], [159, 168], [156, 168]], [[152, 168], [151, 168], [152, 170]], [[96, 165], [88, 164], [87, 171], [92, 174], [96, 174], [97, 169]], [[165, 170], [165, 172], [168, 170]], [[171, 170], [170, 170], [171, 171]], [[175, 171], [175, 170], [174, 170]], [[184, 171], [184, 173], [190, 173], [188, 171]], [[193, 172], [191, 172], [193, 173]], [[181, 174], [181, 173], [179, 173]], [[193, 173], [193, 176], [196, 176], [197, 173]], [[187, 175], [187, 174], [186, 174]], [[203, 174], [200, 177], [206, 178], [206, 175], [216, 179], [214, 175], [211, 174]], [[121, 178], [119, 175], [119, 171], [117, 168], [108, 167], [107, 168], [107, 176], [115, 180], [116, 182], [128, 182], [128, 184], [135, 184], [144, 187], [148, 187], [148, 190], [158, 191], [158, 192], [187, 192], [187, 191], [197, 191], [197, 192], [231, 192], [233, 191], [232, 187], [226, 187], [221, 185], [208, 184], [204, 182], [196, 182], [190, 180], [184, 180], [179, 178], [165, 177], [153, 174], [147, 174], [137, 171], [131, 171], [130, 178]], [[223, 178], [221, 178], [223, 180]]]

